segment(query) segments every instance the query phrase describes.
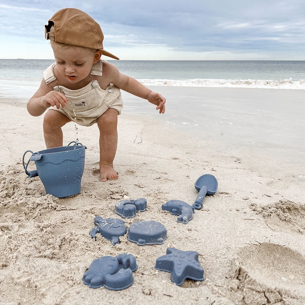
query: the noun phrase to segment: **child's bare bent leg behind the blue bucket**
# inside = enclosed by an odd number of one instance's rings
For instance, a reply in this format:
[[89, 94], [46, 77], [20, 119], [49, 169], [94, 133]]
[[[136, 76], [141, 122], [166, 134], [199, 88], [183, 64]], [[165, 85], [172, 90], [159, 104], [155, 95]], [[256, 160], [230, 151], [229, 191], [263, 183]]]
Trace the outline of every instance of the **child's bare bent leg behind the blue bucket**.
[[63, 131], [61, 127], [71, 120], [63, 113], [49, 109], [43, 119], [43, 134], [47, 148], [63, 146]]

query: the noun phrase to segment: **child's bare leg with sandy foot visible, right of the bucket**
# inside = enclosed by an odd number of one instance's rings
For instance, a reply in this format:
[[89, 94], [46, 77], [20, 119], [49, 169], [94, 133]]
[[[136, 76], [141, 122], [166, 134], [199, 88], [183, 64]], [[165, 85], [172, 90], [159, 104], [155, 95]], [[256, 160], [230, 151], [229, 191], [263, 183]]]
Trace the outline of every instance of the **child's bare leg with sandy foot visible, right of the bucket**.
[[117, 152], [117, 110], [107, 109], [97, 120], [99, 127], [99, 170], [101, 181], [115, 180], [117, 172], [113, 160]]

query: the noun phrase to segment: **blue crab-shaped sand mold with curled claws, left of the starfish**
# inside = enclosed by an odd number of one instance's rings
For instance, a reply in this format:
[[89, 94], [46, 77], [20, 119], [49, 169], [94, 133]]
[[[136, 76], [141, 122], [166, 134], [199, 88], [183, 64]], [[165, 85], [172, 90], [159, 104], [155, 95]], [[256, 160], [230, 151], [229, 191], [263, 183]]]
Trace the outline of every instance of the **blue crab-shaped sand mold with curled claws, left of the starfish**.
[[103, 256], [94, 260], [83, 275], [83, 282], [89, 288], [104, 286], [110, 290], [122, 290], [134, 281], [132, 272], [137, 270], [132, 254], [120, 254], [116, 257]]

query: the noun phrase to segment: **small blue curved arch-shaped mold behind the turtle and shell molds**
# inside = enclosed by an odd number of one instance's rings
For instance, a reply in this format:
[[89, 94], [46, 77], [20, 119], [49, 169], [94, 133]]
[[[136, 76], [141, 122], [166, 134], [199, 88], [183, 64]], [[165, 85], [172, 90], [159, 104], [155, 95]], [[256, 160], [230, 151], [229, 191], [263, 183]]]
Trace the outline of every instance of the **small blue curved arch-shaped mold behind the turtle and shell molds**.
[[120, 200], [115, 205], [114, 212], [123, 218], [132, 218], [136, 216], [136, 212], [144, 212], [147, 208], [145, 198]]

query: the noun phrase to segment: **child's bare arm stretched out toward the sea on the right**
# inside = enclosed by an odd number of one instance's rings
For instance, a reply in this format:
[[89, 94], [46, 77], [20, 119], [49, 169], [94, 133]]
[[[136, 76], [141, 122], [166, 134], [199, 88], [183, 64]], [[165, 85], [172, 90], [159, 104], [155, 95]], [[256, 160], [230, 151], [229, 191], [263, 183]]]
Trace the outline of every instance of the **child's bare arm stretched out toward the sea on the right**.
[[164, 104], [166, 102], [166, 99], [161, 94], [153, 92], [152, 90], [146, 88], [134, 78], [120, 73], [117, 67], [114, 65], [107, 66], [107, 68], [109, 68], [109, 75], [111, 75], [111, 80], [109, 81], [110, 83], [114, 84], [115, 86], [124, 91], [141, 97], [142, 99], [147, 99], [150, 103], [157, 106], [156, 109], [159, 109], [159, 113], [165, 112]]

